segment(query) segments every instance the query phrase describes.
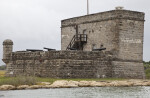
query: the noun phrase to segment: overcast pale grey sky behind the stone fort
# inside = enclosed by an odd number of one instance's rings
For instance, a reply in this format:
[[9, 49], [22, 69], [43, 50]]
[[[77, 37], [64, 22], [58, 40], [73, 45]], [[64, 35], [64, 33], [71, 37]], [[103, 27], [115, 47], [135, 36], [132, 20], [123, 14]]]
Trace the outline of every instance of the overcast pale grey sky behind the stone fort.
[[[2, 43], [14, 42], [13, 51], [61, 49], [61, 20], [86, 15], [87, 0], [0, 0], [0, 65]], [[150, 0], [89, 0], [90, 14], [117, 6], [145, 13], [144, 61], [150, 61]]]

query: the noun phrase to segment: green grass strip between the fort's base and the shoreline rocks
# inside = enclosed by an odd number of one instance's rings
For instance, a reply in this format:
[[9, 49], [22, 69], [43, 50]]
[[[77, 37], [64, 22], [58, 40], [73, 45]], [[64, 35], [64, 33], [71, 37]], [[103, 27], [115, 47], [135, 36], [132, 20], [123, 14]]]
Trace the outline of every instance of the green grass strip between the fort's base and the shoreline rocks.
[[40, 77], [0, 77], [0, 85], [35, 85], [38, 82], [50, 82], [53, 83], [57, 80], [73, 80], [73, 81], [114, 81], [114, 80], [125, 80], [118, 78], [105, 78], [105, 79], [54, 79], [54, 78], [40, 78]]

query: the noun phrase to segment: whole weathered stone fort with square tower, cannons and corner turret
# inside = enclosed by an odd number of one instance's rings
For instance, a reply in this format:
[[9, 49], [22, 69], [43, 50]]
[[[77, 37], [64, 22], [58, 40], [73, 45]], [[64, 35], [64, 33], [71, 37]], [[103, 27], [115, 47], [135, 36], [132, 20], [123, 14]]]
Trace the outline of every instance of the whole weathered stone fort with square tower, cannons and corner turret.
[[61, 21], [61, 50], [13, 52], [3, 42], [6, 76], [145, 78], [143, 12], [115, 10]]

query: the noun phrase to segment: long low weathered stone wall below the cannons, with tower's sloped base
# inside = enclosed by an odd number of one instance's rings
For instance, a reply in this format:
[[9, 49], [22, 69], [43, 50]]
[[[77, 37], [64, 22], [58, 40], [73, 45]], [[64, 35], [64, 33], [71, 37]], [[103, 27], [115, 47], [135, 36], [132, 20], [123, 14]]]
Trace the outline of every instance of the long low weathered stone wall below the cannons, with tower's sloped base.
[[7, 63], [7, 76], [144, 78], [141, 62], [118, 63], [118, 60], [113, 57], [112, 52], [13, 52], [9, 59], [9, 63]]

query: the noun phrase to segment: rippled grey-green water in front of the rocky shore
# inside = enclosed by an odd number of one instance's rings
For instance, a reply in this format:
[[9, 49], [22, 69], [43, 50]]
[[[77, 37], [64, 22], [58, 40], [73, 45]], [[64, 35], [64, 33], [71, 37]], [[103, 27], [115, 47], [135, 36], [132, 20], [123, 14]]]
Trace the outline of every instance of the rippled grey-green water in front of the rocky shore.
[[150, 87], [86, 87], [0, 91], [0, 98], [150, 98]]

